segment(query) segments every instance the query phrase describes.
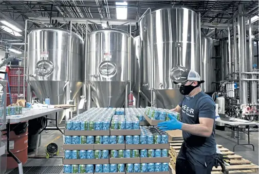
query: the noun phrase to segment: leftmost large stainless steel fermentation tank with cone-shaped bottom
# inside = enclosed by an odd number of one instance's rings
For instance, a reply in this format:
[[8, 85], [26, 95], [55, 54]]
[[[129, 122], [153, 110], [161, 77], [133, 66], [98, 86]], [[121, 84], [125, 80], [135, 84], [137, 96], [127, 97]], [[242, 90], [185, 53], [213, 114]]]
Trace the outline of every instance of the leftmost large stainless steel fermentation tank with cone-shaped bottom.
[[[70, 37], [70, 31], [61, 28], [38, 28], [28, 34], [28, 82], [38, 98], [49, 97], [50, 104], [75, 99], [83, 84], [83, 45], [78, 34]], [[64, 115], [59, 112], [59, 123]]]

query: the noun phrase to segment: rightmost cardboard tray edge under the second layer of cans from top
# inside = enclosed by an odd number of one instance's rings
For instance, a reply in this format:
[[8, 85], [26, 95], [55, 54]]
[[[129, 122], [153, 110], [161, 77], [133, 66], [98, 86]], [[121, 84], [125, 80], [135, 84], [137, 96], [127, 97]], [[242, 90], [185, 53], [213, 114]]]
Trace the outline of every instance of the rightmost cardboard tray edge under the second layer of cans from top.
[[126, 144], [125, 149], [169, 149], [168, 144]]

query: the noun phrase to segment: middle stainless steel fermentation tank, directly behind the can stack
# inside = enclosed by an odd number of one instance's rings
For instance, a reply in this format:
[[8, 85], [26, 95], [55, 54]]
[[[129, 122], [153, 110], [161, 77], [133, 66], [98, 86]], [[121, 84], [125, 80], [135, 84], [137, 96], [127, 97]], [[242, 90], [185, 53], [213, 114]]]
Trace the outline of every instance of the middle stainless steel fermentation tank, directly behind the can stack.
[[87, 100], [93, 98], [97, 107], [122, 107], [135, 82], [134, 38], [123, 30], [99, 29], [87, 34], [86, 47]]

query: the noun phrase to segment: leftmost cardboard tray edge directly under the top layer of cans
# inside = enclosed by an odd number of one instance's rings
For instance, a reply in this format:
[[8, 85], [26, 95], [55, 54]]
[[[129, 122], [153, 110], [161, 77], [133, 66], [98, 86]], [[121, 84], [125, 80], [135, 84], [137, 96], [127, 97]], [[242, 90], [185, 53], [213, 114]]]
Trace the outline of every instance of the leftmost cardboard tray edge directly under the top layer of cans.
[[109, 136], [109, 130], [64, 130], [64, 136]]

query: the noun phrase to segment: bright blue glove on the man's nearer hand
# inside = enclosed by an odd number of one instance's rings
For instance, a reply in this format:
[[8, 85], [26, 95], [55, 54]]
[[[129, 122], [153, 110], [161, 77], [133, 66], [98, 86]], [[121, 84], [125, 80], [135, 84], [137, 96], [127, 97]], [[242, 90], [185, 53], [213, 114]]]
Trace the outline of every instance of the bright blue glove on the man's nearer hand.
[[168, 115], [170, 121], [158, 123], [158, 127], [160, 130], [176, 130], [181, 129], [182, 122], [179, 122], [175, 117], [172, 117], [170, 114]]

